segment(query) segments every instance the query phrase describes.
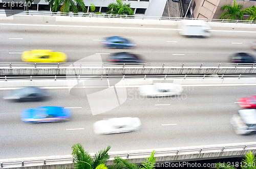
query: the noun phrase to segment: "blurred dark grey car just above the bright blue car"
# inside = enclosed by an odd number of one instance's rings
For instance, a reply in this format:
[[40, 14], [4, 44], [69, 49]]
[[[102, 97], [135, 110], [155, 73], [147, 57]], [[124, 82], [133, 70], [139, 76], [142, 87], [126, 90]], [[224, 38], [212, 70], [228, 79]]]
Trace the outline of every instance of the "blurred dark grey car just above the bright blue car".
[[41, 101], [49, 97], [50, 95], [44, 89], [26, 87], [11, 91], [4, 99], [12, 101]]

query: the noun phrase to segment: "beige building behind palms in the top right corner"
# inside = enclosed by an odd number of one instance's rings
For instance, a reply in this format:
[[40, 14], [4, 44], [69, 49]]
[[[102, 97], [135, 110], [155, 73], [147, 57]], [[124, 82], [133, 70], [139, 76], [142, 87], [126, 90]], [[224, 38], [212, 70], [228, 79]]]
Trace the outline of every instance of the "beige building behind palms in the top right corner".
[[[191, 0], [189, 13], [191, 17], [203, 19], [219, 19], [223, 11], [220, 8], [226, 4], [233, 4], [233, 0]], [[256, 0], [237, 0], [245, 8], [256, 6]]]

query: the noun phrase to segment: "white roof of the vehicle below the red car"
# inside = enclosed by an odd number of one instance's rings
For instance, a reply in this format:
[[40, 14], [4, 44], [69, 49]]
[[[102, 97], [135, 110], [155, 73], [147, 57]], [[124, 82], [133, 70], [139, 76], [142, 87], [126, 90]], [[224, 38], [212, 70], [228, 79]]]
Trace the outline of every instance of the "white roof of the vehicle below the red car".
[[245, 124], [256, 124], [256, 109], [238, 110]]

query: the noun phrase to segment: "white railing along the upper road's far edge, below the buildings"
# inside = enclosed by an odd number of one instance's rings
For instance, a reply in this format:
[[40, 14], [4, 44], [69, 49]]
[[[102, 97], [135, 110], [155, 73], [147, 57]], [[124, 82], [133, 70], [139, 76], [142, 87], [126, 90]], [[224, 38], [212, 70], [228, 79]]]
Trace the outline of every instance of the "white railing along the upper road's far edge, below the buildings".
[[70, 16], [70, 17], [104, 17], [104, 18], [133, 18], [133, 19], [158, 19], [158, 20], [181, 20], [181, 19], [198, 19], [206, 22], [231, 22], [231, 23], [256, 23], [253, 20], [229, 20], [229, 19], [202, 19], [202, 18], [182, 18], [182, 17], [160, 17], [145, 15], [113, 15], [113, 14], [93, 14], [93, 13], [60, 13], [60, 12], [43, 12], [43, 11], [20, 11], [20, 10], [0, 10], [0, 14], [10, 15], [44, 15], [44, 16]]

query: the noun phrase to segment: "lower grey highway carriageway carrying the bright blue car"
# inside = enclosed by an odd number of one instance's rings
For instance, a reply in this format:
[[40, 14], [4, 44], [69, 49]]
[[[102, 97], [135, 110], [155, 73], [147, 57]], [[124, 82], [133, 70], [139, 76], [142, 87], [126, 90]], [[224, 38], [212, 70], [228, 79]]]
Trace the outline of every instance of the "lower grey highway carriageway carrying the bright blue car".
[[[256, 134], [236, 135], [229, 122], [239, 109], [234, 102], [254, 94], [254, 86], [184, 87], [182, 96], [162, 98], [143, 98], [138, 88], [126, 88], [127, 99], [122, 105], [96, 116], [92, 116], [86, 97], [70, 95], [68, 89], [47, 91], [52, 97], [42, 102], [5, 101], [3, 96], [9, 90], [1, 91], [0, 159], [68, 155], [75, 143], [93, 153], [108, 145], [112, 146], [110, 151], [124, 151], [243, 143], [256, 138]], [[72, 119], [40, 124], [20, 121], [23, 109], [38, 106], [70, 107]], [[139, 117], [141, 129], [94, 134], [94, 122], [114, 117]]]

